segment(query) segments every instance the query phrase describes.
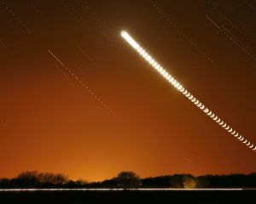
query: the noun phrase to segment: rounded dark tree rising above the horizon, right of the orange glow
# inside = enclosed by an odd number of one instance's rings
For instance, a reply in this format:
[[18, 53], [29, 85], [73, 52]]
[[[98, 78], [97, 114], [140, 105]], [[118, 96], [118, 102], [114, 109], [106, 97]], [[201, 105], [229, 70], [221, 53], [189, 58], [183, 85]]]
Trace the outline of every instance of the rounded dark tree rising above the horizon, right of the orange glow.
[[125, 190], [136, 189], [141, 184], [141, 179], [133, 172], [121, 172], [114, 178], [120, 188]]

